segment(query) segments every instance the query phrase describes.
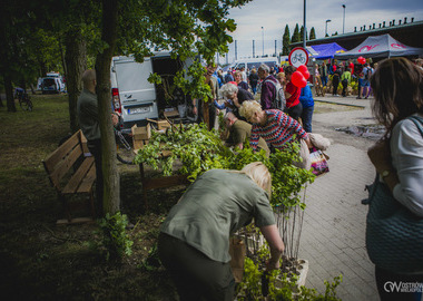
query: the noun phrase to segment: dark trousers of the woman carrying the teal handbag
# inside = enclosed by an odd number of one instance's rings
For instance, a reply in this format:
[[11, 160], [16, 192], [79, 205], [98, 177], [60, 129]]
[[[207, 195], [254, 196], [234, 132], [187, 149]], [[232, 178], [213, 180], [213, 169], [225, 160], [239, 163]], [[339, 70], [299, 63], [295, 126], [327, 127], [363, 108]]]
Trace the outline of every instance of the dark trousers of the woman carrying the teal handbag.
[[[421, 287], [413, 292], [410, 285], [417, 283]], [[376, 285], [381, 301], [420, 301], [423, 274], [396, 274], [376, 266]]]

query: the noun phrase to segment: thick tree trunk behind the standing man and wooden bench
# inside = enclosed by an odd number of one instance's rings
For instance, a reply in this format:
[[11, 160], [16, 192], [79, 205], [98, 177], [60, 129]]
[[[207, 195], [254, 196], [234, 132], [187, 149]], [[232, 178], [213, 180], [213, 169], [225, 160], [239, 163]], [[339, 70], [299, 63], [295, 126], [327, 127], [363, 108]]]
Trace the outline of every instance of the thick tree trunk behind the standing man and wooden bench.
[[73, 27], [66, 33], [66, 85], [69, 97], [70, 130], [79, 129], [77, 117], [77, 101], [82, 90], [82, 74], [87, 67], [87, 43], [81, 29]]

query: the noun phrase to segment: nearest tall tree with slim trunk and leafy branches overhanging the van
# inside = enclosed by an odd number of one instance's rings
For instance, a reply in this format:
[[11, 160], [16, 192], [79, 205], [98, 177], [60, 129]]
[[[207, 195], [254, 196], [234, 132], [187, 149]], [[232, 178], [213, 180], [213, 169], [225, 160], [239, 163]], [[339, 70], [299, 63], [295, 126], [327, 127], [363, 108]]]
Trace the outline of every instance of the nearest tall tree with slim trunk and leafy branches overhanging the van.
[[[97, 94], [99, 100], [102, 167], [105, 177], [104, 207], [119, 210], [119, 177], [116, 169], [116, 146], [110, 122], [110, 61], [117, 43], [125, 54], [135, 54], [138, 60], [151, 49], [171, 49], [173, 57], [185, 60], [201, 57], [212, 62], [215, 54], [226, 54], [236, 26], [227, 19], [229, 8], [249, 0], [118, 0], [102, 1], [104, 46], [96, 59]], [[175, 81], [193, 97], [207, 99], [210, 88], [205, 84], [205, 68], [199, 60], [189, 67], [187, 80], [179, 74]], [[111, 133], [111, 134], [110, 134]]]

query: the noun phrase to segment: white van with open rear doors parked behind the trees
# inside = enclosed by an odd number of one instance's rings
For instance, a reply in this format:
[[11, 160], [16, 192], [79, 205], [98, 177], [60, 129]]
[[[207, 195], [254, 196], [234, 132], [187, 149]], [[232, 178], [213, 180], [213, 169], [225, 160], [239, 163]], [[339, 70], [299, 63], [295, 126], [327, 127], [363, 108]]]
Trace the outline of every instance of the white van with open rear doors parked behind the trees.
[[[186, 97], [178, 89], [170, 89], [174, 76], [184, 68], [180, 60], [170, 58], [169, 52], [158, 52], [137, 62], [132, 56], [114, 57], [111, 60], [111, 94], [112, 107], [122, 117], [122, 132], [130, 132], [137, 124], [142, 126], [149, 119], [158, 119], [160, 111], [168, 107], [186, 101]], [[156, 72], [165, 81], [165, 91], [148, 81], [150, 74]], [[161, 87], [163, 87], [161, 86]], [[169, 95], [170, 91], [173, 95]]]

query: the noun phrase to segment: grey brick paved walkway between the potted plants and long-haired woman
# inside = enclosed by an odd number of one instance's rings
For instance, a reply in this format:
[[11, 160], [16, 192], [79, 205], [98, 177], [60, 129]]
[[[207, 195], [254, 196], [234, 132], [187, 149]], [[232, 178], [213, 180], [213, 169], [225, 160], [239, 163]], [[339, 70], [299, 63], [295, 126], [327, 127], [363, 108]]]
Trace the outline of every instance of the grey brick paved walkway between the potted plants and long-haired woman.
[[328, 101], [362, 105], [365, 108], [314, 116], [313, 132], [328, 136], [333, 143], [326, 152], [331, 172], [308, 185], [306, 211], [299, 246], [299, 258], [309, 262], [306, 287], [324, 292], [324, 280], [343, 274], [337, 289], [342, 300], [378, 300], [374, 281], [374, 265], [365, 249], [365, 217], [367, 207], [364, 186], [375, 172], [366, 148], [374, 142], [335, 132], [335, 127], [373, 124], [370, 100], [347, 97], [317, 98]]

